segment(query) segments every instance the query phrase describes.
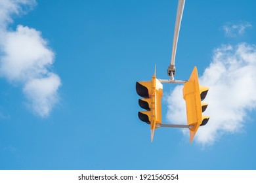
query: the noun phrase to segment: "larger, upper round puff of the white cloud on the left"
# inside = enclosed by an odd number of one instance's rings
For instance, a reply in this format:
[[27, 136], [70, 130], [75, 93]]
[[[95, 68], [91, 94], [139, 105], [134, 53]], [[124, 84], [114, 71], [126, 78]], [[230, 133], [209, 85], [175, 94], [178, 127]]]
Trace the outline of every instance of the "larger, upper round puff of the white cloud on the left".
[[9, 80], [29, 80], [47, 73], [54, 53], [35, 29], [18, 25], [2, 39], [1, 75]]

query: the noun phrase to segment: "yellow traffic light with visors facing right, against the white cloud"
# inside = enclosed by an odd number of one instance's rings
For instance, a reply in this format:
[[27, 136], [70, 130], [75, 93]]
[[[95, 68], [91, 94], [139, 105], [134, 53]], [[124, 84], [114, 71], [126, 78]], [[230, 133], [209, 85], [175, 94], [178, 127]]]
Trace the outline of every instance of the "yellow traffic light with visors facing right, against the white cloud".
[[183, 99], [186, 101], [186, 118], [190, 125], [190, 143], [193, 141], [198, 127], [207, 124], [209, 116], [204, 116], [203, 111], [207, 108], [205, 99], [209, 88], [200, 86], [198, 81], [198, 70], [194, 67], [188, 82], [184, 84]]

